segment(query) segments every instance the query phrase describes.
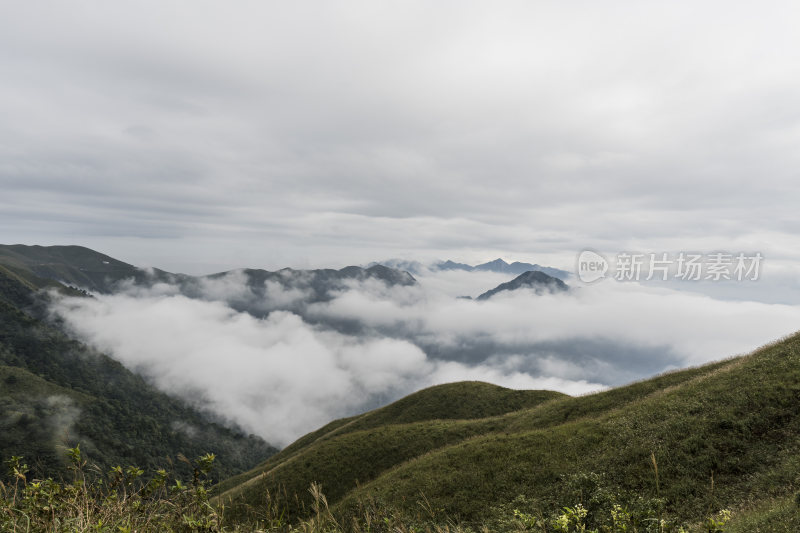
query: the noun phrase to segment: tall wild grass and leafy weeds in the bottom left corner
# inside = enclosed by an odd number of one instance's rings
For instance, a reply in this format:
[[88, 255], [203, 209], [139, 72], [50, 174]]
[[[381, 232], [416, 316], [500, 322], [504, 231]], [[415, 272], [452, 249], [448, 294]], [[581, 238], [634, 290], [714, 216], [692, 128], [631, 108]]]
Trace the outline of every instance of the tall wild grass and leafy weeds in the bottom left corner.
[[0, 482], [1, 532], [221, 531], [221, 515], [208, 503], [212, 454], [190, 463], [194, 475], [188, 484], [170, 481], [165, 470], [154, 472], [147, 482], [136, 467], [87, 473], [80, 448], [68, 454], [73, 472], [69, 482], [29, 480], [21, 457], [7, 461], [8, 480]]

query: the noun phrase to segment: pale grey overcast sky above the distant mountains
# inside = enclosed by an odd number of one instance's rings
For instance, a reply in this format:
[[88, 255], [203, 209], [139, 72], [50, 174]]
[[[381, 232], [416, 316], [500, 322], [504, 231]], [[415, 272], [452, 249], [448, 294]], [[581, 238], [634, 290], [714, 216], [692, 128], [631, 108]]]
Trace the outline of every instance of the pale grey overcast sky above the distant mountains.
[[[0, 242], [800, 263], [796, 2], [0, 0]], [[796, 280], [796, 276], [794, 278]]]

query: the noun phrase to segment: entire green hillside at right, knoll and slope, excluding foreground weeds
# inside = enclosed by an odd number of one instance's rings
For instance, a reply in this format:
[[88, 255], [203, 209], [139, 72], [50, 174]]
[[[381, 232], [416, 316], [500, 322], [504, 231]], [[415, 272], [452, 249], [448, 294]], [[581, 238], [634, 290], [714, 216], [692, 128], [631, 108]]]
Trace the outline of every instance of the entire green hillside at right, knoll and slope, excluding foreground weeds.
[[269, 491], [303, 517], [316, 481], [340, 523], [370, 501], [406, 524], [421, 520], [420, 501], [435, 510], [428, 519], [473, 526], [513, 508], [548, 517], [578, 503], [598, 528], [613, 503], [676, 527], [720, 509], [733, 511], [734, 531], [779, 531], [797, 518], [800, 335], [588, 396], [534, 392], [538, 401], [510, 407], [514, 391], [503, 391], [434, 387], [334, 422], [223, 483], [220, 501], [232, 516], [257, 517]]

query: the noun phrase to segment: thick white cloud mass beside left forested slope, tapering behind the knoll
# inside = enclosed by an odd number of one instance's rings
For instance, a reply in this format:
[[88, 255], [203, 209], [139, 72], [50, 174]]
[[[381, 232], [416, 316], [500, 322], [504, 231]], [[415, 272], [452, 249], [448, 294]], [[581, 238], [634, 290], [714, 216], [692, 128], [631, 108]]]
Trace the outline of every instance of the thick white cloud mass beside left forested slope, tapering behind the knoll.
[[[241, 294], [236, 288], [230, 296]], [[572, 393], [600, 387], [498, 364], [435, 360], [404, 339], [346, 335], [286, 311], [258, 319], [165, 285], [61, 299], [54, 311], [78, 337], [162, 390], [283, 445], [333, 418], [436, 383], [471, 379]]]

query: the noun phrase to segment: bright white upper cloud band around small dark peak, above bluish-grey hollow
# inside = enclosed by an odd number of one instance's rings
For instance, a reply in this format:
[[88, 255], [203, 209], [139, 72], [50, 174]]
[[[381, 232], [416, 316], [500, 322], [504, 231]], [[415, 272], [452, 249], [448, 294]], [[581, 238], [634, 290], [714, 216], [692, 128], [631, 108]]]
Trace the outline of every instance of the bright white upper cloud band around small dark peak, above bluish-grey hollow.
[[504, 345], [616, 339], [638, 347], [670, 347], [685, 364], [735, 355], [800, 328], [800, 306], [723, 301], [645, 284], [609, 280], [568, 294], [513, 291], [475, 302], [425, 290], [426, 281], [421, 278], [421, 287], [410, 288], [361, 285], [312, 305], [311, 314], [453, 343], [476, 336]]

